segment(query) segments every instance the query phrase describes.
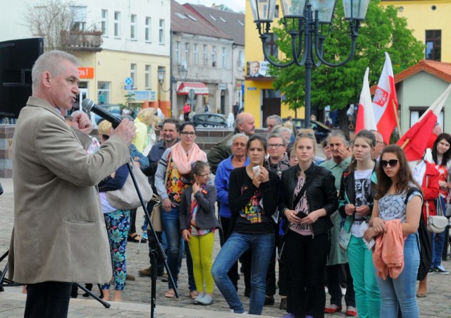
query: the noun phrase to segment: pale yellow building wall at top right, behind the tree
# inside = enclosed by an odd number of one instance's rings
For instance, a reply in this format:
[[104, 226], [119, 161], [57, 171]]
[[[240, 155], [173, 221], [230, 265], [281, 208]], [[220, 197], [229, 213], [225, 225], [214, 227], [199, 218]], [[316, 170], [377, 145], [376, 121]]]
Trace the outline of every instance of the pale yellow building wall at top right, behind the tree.
[[[407, 18], [407, 27], [414, 37], [426, 43], [426, 30], [442, 30], [442, 62], [451, 62], [451, 1], [382, 1], [382, 6], [402, 7], [398, 16]], [[432, 9], [435, 6], [435, 10]]]

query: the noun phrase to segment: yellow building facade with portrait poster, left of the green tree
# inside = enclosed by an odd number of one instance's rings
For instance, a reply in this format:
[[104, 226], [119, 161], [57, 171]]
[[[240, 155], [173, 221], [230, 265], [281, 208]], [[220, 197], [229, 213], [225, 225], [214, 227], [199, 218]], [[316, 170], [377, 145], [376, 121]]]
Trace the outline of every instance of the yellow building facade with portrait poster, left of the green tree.
[[[261, 39], [254, 23], [250, 1], [252, 0], [246, 0], [245, 14], [245, 61], [247, 62], [244, 87], [245, 111], [254, 115], [257, 127], [263, 127], [266, 117], [274, 114], [282, 118], [288, 116], [296, 118], [297, 114], [297, 118], [304, 118], [304, 109], [298, 109], [297, 112], [289, 109], [288, 104], [283, 103], [283, 97], [274, 90], [272, 78], [266, 77], [268, 65], [264, 61]], [[280, 1], [276, 1], [276, 16], [271, 26], [277, 26], [281, 17]], [[252, 71], [257, 70], [257, 63], [259, 75], [254, 77]]]

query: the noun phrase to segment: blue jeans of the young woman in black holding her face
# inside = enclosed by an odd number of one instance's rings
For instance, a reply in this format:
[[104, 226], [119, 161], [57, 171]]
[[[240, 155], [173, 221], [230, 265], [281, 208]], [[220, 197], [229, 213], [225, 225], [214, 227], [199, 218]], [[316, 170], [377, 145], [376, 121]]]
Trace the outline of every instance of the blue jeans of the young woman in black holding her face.
[[245, 312], [228, 271], [247, 250], [252, 250], [251, 299], [249, 314], [261, 314], [265, 302], [266, 271], [274, 248], [274, 233], [237, 233], [226, 240], [216, 257], [211, 274], [219, 291], [235, 313]]

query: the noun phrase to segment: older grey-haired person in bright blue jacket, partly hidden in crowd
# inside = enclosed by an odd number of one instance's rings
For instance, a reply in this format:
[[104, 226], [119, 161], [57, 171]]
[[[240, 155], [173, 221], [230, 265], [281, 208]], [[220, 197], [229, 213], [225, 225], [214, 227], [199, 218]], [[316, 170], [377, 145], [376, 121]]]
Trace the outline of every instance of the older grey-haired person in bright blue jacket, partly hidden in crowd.
[[[228, 183], [230, 178], [230, 172], [235, 168], [247, 166], [249, 164], [249, 158], [246, 155], [246, 143], [249, 137], [243, 133], [237, 133], [233, 135], [231, 139], [232, 155], [227, 159], [221, 161], [216, 170], [216, 176], [214, 178], [214, 185], [217, 191], [217, 200], [221, 202], [219, 207], [219, 224], [221, 224], [222, 236], [221, 246], [226, 243], [226, 240], [230, 236], [230, 218], [232, 212], [228, 205]], [[232, 280], [233, 286], [237, 288], [238, 283], [238, 264], [235, 262], [230, 269], [228, 276]]]

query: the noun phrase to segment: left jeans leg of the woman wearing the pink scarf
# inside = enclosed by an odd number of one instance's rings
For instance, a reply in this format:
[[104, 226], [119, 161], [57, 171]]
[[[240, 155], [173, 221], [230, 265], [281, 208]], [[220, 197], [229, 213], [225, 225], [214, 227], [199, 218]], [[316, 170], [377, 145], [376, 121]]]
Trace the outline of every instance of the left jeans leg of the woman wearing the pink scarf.
[[[173, 207], [171, 211], [161, 211], [161, 224], [166, 234], [166, 243], [168, 244], [168, 267], [174, 279], [175, 288], [177, 288], [178, 264], [180, 262], [180, 221], [178, 219], [179, 207]], [[168, 280], [168, 288], [174, 288], [171, 279]]]

